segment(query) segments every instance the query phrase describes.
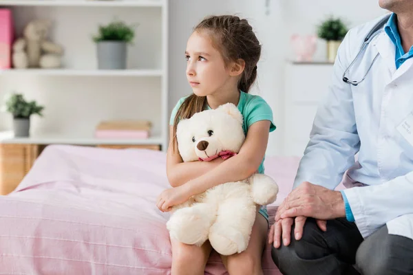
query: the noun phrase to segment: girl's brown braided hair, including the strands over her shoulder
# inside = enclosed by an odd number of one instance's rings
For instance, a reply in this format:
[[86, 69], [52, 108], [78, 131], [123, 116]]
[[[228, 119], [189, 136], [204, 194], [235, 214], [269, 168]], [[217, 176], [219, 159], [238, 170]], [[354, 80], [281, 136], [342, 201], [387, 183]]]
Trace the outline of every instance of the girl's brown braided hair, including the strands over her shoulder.
[[[257, 63], [261, 56], [261, 45], [253, 28], [246, 19], [232, 15], [206, 17], [195, 26], [194, 32], [204, 32], [211, 36], [213, 46], [220, 51], [227, 65], [231, 61], [244, 60], [238, 89], [248, 93], [257, 78]], [[194, 113], [207, 107], [206, 96], [192, 94], [185, 98], [173, 121], [173, 146], [176, 144], [176, 128], [179, 120], [191, 118]]]

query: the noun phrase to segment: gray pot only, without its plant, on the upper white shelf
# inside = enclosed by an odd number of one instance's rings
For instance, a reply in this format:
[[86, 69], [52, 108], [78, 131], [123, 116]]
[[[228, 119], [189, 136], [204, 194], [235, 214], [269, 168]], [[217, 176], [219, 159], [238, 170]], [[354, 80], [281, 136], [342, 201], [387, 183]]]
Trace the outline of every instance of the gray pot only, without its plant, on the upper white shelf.
[[97, 43], [98, 69], [126, 69], [127, 43], [100, 41]]

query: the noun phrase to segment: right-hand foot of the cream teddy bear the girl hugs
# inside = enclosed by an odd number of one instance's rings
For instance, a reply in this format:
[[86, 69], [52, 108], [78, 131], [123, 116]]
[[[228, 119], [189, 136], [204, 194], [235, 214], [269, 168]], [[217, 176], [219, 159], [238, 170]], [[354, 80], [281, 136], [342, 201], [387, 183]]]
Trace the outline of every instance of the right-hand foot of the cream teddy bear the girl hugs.
[[221, 255], [232, 255], [246, 250], [248, 241], [244, 235], [229, 225], [220, 226], [221, 230], [216, 230], [219, 226], [215, 223], [209, 232], [209, 242], [213, 249]]

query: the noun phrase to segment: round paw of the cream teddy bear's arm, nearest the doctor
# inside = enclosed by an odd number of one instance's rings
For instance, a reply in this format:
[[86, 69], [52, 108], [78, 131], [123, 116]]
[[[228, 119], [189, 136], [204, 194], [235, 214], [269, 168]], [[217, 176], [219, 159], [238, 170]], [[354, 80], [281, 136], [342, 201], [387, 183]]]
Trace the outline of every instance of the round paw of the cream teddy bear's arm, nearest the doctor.
[[265, 206], [277, 199], [278, 185], [268, 175], [254, 174], [249, 179], [255, 203]]

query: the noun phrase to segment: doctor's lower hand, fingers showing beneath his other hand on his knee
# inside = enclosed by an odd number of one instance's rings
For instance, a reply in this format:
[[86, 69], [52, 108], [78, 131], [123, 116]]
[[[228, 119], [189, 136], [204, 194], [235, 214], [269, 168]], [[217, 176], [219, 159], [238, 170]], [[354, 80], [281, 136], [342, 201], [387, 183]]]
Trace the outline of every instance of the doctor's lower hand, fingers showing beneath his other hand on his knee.
[[[301, 236], [303, 236], [304, 223], [306, 223], [306, 219], [307, 217], [301, 216], [296, 217], [295, 219], [286, 218], [275, 221], [275, 223], [271, 225], [270, 232], [268, 233], [268, 243], [274, 243], [274, 248], [279, 248], [281, 246], [281, 240], [284, 246], [290, 245], [291, 228], [293, 223], [295, 223], [294, 236], [298, 241], [301, 239]], [[316, 222], [321, 230], [327, 230], [327, 221], [317, 219]]]

